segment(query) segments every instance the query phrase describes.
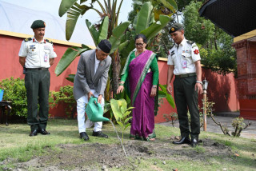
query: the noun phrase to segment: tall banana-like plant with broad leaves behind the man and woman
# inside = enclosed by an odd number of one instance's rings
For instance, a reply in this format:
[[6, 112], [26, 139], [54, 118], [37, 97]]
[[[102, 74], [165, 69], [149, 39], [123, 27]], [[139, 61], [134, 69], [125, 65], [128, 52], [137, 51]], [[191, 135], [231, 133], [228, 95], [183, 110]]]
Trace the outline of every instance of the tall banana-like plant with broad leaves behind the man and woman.
[[[66, 38], [68, 39], [71, 37], [78, 17], [82, 14], [85, 14], [86, 11], [90, 9], [95, 10], [103, 18], [102, 23], [99, 25], [99, 28], [95, 28], [95, 26], [92, 25], [88, 20], [86, 20], [86, 26], [90, 30], [90, 34], [94, 40], [95, 46], [98, 44], [98, 42], [100, 42], [102, 38], [109, 38], [112, 44], [112, 49], [110, 51], [110, 56], [112, 57], [112, 68], [110, 70], [110, 78], [107, 82], [106, 89], [108, 93], [111, 93], [111, 91], [115, 93], [116, 89], [118, 88], [118, 77], [120, 70], [122, 70], [121, 67], [124, 66], [127, 55], [130, 53], [131, 50], [134, 50], [135, 48], [135, 35], [140, 33], [145, 34], [146, 37], [150, 40], [151, 38], [154, 38], [159, 32], [161, 32], [162, 28], [166, 26], [168, 22], [170, 22], [170, 16], [166, 14], [160, 14], [159, 20], [155, 21], [154, 8], [156, 6], [162, 6], [162, 4], [164, 4], [166, 8], [173, 12], [177, 10], [177, 5], [174, 0], [151, 0], [151, 2], [146, 2], [142, 4], [142, 9], [138, 12], [137, 19], [132, 26], [128, 27], [130, 25], [130, 22], [123, 22], [118, 26], [118, 15], [123, 0], [120, 2], [118, 10], [116, 10], [117, 0], [113, 0], [112, 5], [110, 0], [108, 0], [107, 2], [106, 0], [104, 0], [105, 8], [98, 0], [91, 0], [91, 6], [82, 5], [82, 3], [86, 2], [86, 0], [81, 0], [80, 4], [78, 4], [77, 1], [62, 0], [59, 8], [60, 16], [68, 13], [66, 21]], [[102, 9], [102, 13], [99, 12], [99, 10], [94, 9], [94, 2], [98, 2], [100, 8]], [[116, 11], [118, 12], [116, 13]], [[55, 73], [57, 75], [62, 74], [66, 67], [70, 65], [70, 62], [74, 61], [76, 57], [78, 57], [82, 52], [86, 50], [90, 49], [86, 49], [85, 46], [82, 46], [82, 48], [69, 48], [63, 55], [63, 59], [61, 59], [58, 66], [56, 67]], [[72, 78], [68, 79], [72, 81]], [[112, 87], [110, 86], [110, 82], [112, 82]], [[106, 97], [110, 96], [106, 95]], [[106, 100], [110, 99], [106, 98]]]

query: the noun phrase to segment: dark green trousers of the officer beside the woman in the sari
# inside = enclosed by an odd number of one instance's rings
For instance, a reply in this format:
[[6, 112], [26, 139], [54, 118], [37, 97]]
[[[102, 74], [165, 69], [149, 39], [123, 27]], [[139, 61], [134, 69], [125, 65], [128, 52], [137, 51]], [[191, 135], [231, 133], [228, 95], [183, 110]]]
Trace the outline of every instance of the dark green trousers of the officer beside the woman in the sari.
[[[200, 133], [200, 117], [198, 110], [198, 92], [194, 89], [196, 76], [175, 78], [174, 98], [178, 112], [179, 128], [182, 137], [198, 137]], [[189, 124], [188, 109], [191, 122]]]

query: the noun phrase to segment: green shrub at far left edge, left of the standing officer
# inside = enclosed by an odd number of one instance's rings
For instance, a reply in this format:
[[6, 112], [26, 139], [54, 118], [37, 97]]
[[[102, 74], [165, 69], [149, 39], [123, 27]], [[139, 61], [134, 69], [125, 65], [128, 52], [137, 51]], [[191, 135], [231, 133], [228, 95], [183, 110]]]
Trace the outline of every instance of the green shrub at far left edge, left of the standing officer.
[[1, 89], [4, 89], [3, 101], [12, 101], [10, 115], [26, 117], [26, 88], [25, 82], [20, 78], [6, 78], [0, 82]]

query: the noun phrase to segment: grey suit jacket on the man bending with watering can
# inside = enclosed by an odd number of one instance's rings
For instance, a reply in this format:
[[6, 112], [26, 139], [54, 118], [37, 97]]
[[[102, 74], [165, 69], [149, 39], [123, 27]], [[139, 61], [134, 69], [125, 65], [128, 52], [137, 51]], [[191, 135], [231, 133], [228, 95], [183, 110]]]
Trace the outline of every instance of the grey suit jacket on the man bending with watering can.
[[111, 58], [107, 56], [98, 64], [98, 69], [94, 74], [95, 50], [82, 53], [78, 62], [77, 74], [74, 77], [73, 93], [75, 100], [89, 93], [90, 89], [95, 89], [98, 94], [102, 94], [104, 97], [110, 65]]

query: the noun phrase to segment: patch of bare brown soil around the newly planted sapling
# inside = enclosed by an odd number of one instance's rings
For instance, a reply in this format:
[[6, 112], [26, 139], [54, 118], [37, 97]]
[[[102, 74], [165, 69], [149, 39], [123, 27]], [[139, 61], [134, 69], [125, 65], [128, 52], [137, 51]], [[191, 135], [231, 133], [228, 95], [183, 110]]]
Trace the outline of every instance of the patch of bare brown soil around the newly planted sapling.
[[[198, 148], [191, 148], [190, 145], [172, 145], [168, 141], [156, 140], [147, 141], [126, 141], [125, 148], [128, 158], [122, 153], [121, 145], [104, 144], [66, 144], [57, 145], [57, 149], [46, 147], [46, 155], [34, 157], [30, 161], [14, 163], [16, 169], [12, 170], [108, 170], [111, 168], [136, 169], [141, 160], [158, 158], [164, 160], [193, 159], [205, 161], [209, 157], [230, 157], [229, 146], [222, 145], [211, 139], [203, 139]], [[2, 161], [8, 163], [9, 161]], [[8, 170], [8, 169], [6, 169]]]

